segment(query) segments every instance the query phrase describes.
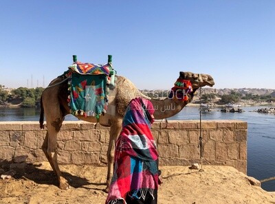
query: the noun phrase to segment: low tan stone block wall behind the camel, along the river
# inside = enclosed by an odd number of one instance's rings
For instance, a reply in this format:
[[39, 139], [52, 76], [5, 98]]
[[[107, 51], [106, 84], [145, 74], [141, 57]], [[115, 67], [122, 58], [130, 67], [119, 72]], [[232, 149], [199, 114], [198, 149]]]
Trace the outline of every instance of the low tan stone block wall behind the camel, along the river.
[[[247, 122], [239, 120], [180, 120], [155, 122], [152, 133], [159, 165], [200, 163], [199, 135], [203, 138], [203, 165], [233, 166], [246, 174]], [[47, 161], [41, 146], [46, 131], [39, 122], [0, 122], [0, 160], [28, 155], [28, 161]], [[109, 128], [88, 122], [63, 122], [58, 133], [59, 163], [106, 166]]]

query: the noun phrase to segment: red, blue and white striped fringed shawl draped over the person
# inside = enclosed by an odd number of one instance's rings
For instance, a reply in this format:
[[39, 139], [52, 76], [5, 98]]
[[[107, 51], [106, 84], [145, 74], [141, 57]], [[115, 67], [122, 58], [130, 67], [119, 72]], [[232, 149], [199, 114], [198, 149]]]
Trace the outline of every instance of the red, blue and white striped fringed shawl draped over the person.
[[[142, 102], [153, 114], [151, 102], [144, 99]], [[140, 98], [131, 100], [115, 143], [114, 172], [106, 203], [115, 203], [118, 199], [124, 201], [126, 194], [136, 199], [148, 193], [153, 196], [153, 190], [157, 190], [158, 153], [150, 128]]]

